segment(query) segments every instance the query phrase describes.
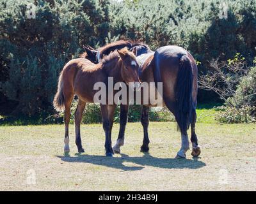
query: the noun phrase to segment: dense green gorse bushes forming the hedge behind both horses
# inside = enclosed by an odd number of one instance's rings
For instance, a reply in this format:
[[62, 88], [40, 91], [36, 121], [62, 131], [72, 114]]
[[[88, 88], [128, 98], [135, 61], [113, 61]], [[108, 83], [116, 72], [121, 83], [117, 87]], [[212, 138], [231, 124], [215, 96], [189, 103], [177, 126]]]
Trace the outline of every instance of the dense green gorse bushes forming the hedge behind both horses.
[[[30, 2], [36, 18], [27, 16]], [[212, 58], [227, 60], [237, 52], [251, 63], [256, 1], [227, 1], [227, 19], [219, 17], [220, 2], [0, 0], [0, 112], [54, 113], [58, 74], [86, 44], [100, 47], [122, 38], [143, 40], [152, 50], [175, 44], [201, 62], [200, 71]], [[204, 92], [205, 98], [212, 95]], [[140, 117], [139, 111], [131, 117]]]

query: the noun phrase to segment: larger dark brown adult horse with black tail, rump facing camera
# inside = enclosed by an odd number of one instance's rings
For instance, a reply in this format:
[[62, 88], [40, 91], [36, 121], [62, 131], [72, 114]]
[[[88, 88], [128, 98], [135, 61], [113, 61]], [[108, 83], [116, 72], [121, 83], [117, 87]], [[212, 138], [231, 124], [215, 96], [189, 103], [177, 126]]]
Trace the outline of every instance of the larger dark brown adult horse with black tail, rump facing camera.
[[[120, 42], [120, 43], [119, 43]], [[117, 47], [118, 45], [118, 47]], [[173, 113], [177, 120], [181, 133], [181, 148], [177, 157], [186, 157], [189, 149], [188, 128], [191, 125], [192, 156], [200, 155], [200, 147], [195, 133], [196, 123], [196, 95], [197, 95], [197, 66], [193, 56], [184, 48], [177, 46], [165, 46], [152, 52], [143, 43], [131, 43], [117, 41], [106, 45], [99, 50], [88, 47], [86, 52], [99, 62], [109, 50], [127, 46], [130, 50], [136, 48], [137, 61], [140, 65], [139, 74], [141, 82], [162, 82], [163, 83], [163, 104]], [[90, 57], [87, 57], [90, 59]], [[92, 60], [90, 59], [90, 60]], [[148, 138], [148, 111], [152, 105], [141, 106], [141, 124], [143, 126], [144, 138], [141, 146], [142, 152], [148, 152], [150, 143]], [[115, 152], [120, 152], [120, 146], [124, 145], [124, 132], [127, 121], [128, 105], [121, 105], [120, 109], [120, 131]]]

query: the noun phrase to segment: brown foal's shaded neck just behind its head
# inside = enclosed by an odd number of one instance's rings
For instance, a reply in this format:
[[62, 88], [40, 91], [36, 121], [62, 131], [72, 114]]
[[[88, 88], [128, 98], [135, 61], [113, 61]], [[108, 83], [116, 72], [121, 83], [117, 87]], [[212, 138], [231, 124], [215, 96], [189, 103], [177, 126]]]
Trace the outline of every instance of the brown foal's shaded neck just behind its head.
[[121, 75], [122, 61], [119, 57], [111, 59], [111, 61], [106, 61], [102, 63], [102, 70], [106, 73], [108, 77], [113, 77], [114, 84], [116, 82], [123, 82]]

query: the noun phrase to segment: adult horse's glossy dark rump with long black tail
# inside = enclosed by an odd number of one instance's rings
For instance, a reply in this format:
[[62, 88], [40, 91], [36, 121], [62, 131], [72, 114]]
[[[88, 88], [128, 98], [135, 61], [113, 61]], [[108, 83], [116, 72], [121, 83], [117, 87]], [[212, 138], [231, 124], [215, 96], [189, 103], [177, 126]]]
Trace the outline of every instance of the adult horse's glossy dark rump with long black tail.
[[180, 131], [186, 132], [196, 108], [195, 59], [184, 48], [165, 46], [156, 50], [153, 64], [155, 82], [163, 82], [164, 103], [175, 115]]

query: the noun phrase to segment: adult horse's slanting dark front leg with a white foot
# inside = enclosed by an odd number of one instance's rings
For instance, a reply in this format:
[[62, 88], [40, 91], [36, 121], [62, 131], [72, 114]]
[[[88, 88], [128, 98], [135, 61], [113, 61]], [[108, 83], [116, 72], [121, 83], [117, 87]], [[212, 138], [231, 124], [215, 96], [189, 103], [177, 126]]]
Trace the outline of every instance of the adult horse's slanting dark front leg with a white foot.
[[116, 144], [113, 147], [115, 153], [120, 153], [120, 147], [124, 145], [125, 126], [127, 124], [129, 105], [120, 105], [120, 128]]

